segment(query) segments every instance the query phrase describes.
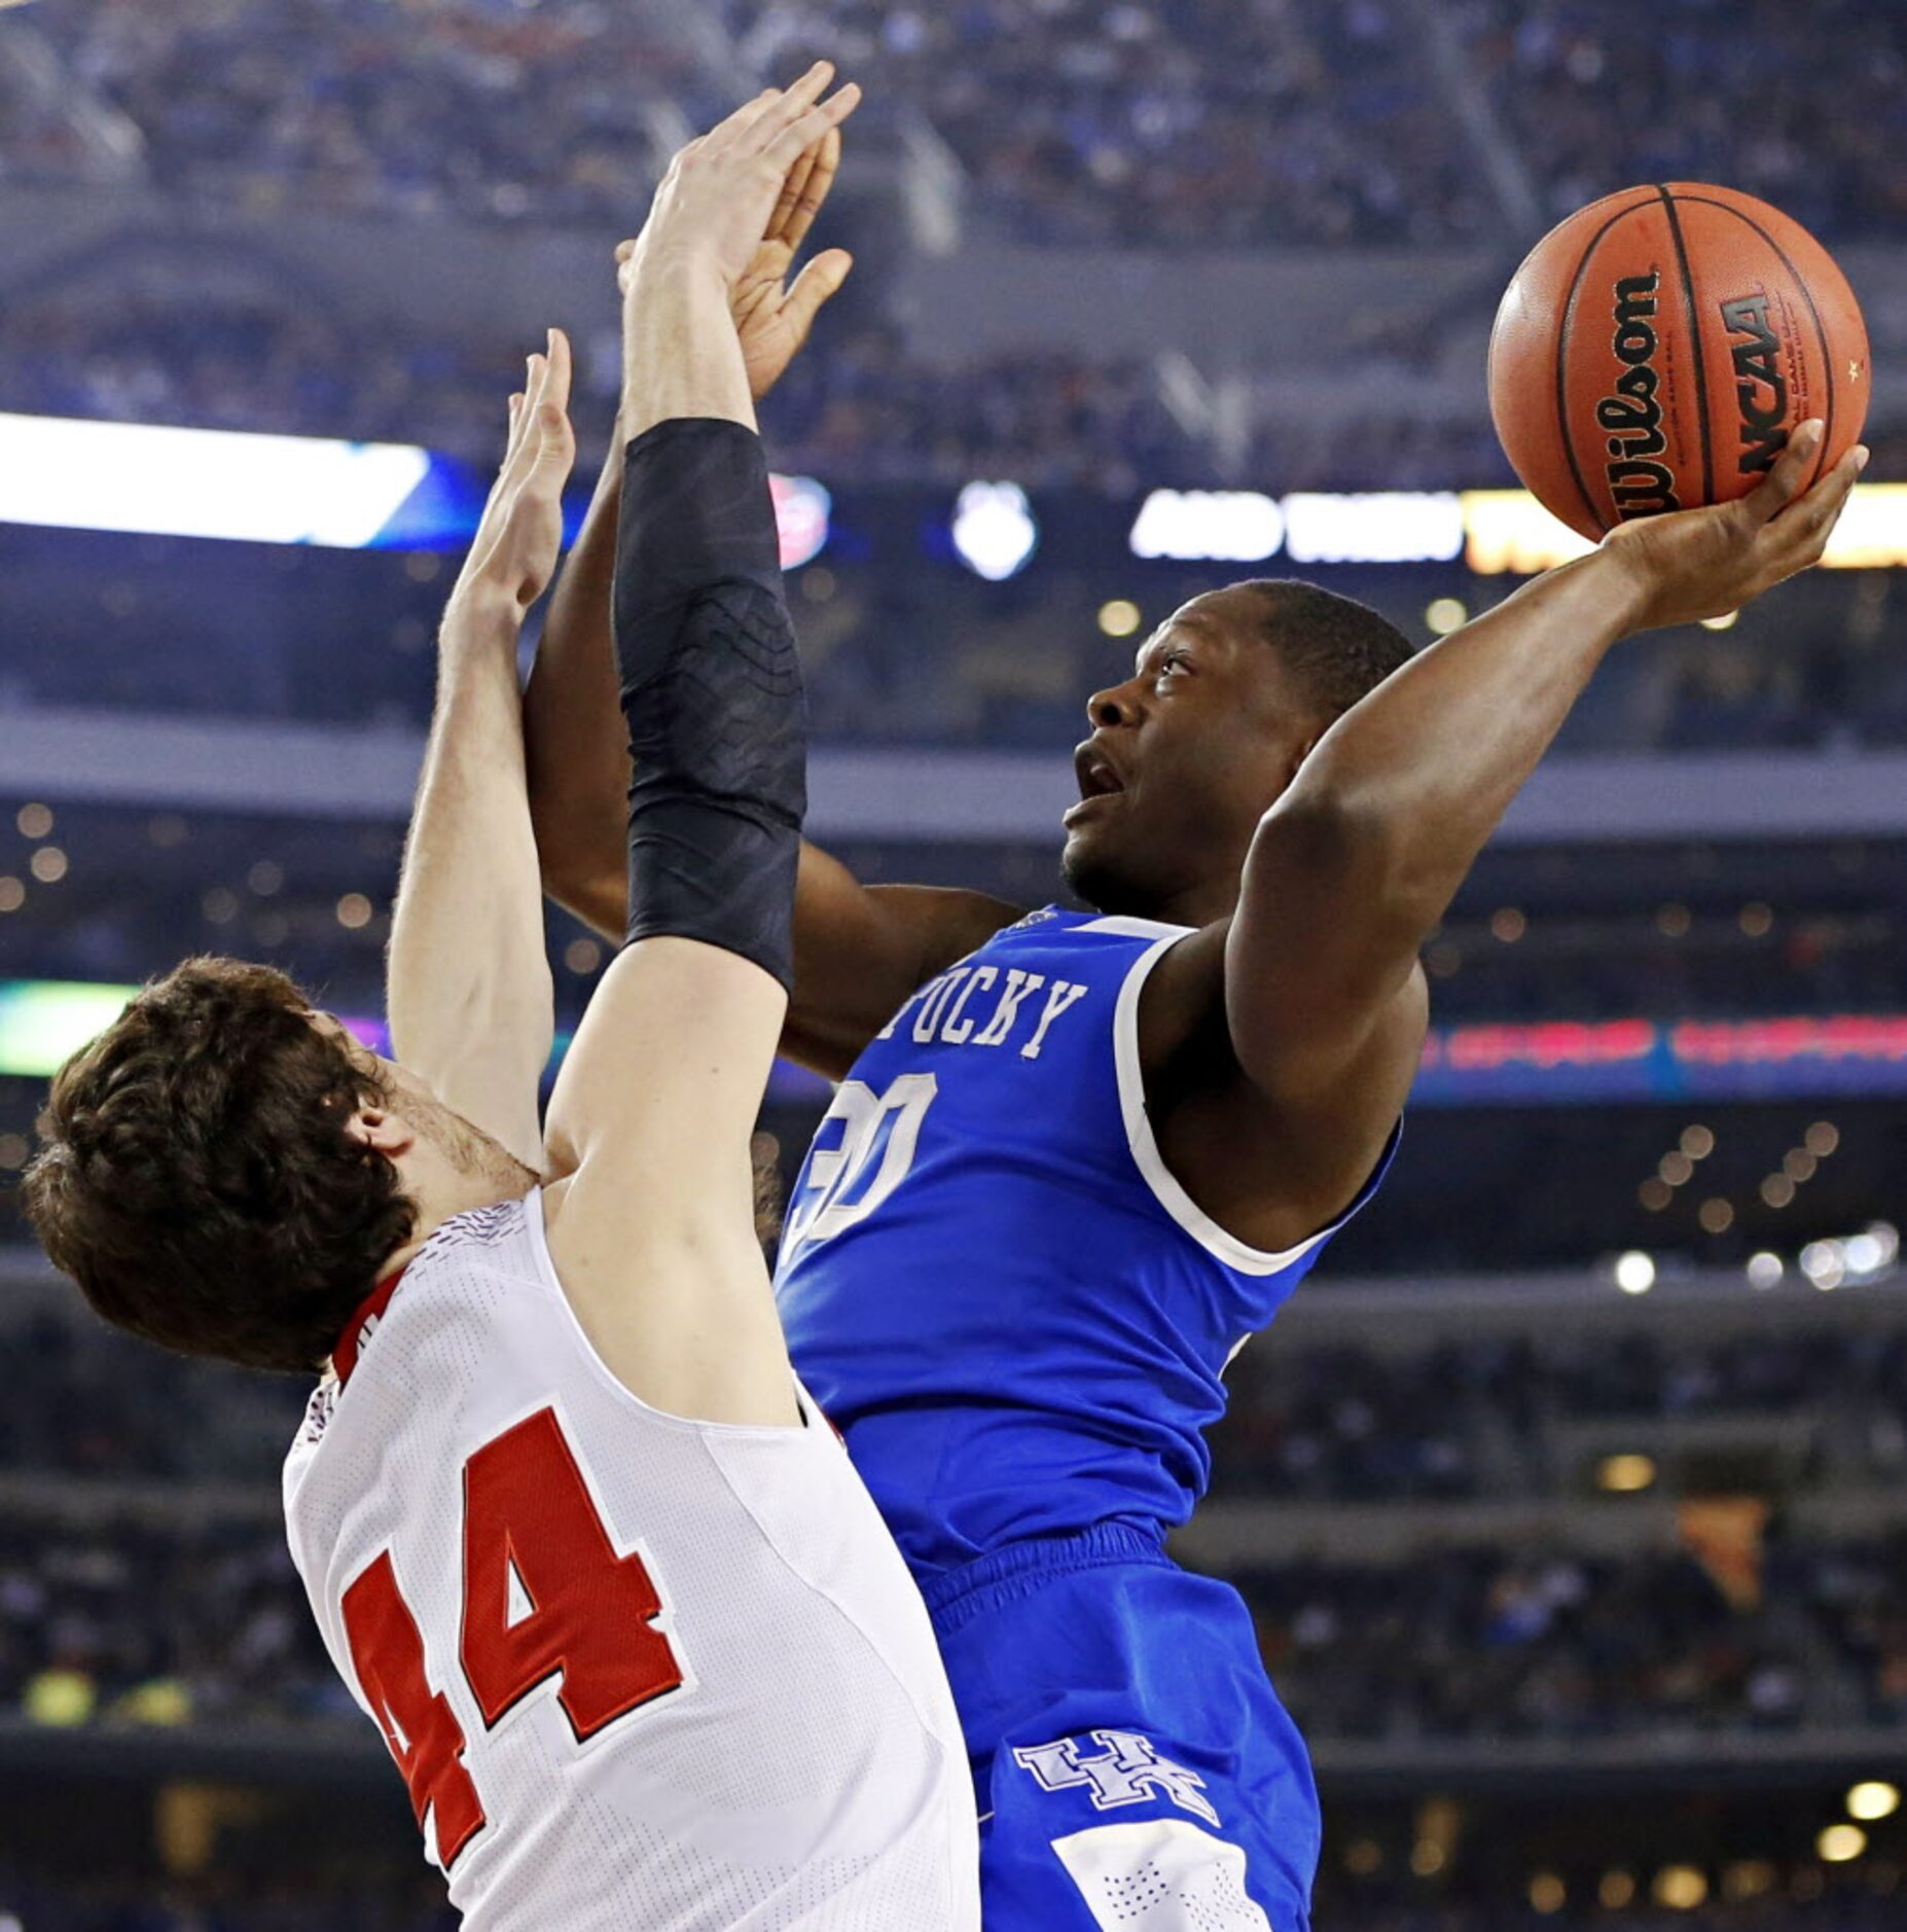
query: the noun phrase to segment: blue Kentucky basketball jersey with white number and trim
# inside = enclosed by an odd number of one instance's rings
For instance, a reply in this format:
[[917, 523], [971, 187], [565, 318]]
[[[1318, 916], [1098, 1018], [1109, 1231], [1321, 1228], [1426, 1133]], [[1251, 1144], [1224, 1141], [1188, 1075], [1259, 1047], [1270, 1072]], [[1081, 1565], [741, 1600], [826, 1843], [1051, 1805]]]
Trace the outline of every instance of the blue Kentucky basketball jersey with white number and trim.
[[1331, 1233], [1248, 1248], [1159, 1157], [1138, 1001], [1184, 937], [1030, 914], [900, 1009], [802, 1167], [788, 1349], [924, 1578], [1105, 1519], [1184, 1522], [1225, 1364]]

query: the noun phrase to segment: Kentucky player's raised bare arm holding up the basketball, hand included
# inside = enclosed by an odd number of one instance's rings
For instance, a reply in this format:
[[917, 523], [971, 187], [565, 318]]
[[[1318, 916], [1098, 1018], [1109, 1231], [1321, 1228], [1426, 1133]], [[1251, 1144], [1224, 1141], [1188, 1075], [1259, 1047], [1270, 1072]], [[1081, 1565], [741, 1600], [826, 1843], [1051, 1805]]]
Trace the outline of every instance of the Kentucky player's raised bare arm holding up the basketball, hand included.
[[1221, 949], [1238, 1066], [1293, 1144], [1335, 1163], [1339, 1204], [1409, 1092], [1418, 949], [1484, 840], [1619, 638], [1735, 611], [1820, 558], [1864, 450], [1803, 497], [1818, 442], [1803, 425], [1752, 497], [1623, 524], [1418, 653], [1266, 813], [1237, 916], [1194, 945]]

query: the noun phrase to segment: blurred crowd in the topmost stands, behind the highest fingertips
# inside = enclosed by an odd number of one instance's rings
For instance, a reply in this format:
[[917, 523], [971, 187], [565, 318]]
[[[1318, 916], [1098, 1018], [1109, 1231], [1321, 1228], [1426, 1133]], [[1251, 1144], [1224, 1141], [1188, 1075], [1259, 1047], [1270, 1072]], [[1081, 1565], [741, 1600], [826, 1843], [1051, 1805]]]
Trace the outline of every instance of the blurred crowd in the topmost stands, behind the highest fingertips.
[[[97, 102], [15, 114], [6, 168], [118, 166], [282, 203], [597, 218], [672, 122], [827, 54], [1039, 242], [1490, 240], [1490, 164], [1555, 213], [1722, 180], [1830, 236], [1907, 220], [1895, 10], [1824, 0], [726, 0], [688, 31], [603, 0], [68, 0], [43, 31]], [[1480, 124], [1482, 118], [1482, 124]], [[12, 129], [10, 129], [12, 135]]]

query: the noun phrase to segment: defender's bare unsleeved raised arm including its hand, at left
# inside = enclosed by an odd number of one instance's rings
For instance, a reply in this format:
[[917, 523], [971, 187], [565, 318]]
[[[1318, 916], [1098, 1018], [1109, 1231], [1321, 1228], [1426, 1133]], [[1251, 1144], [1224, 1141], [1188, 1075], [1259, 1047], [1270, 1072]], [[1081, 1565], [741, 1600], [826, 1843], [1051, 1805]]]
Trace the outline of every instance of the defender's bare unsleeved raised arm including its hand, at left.
[[437, 641], [437, 707], [390, 925], [392, 1049], [464, 1119], [541, 1169], [555, 1032], [524, 781], [516, 641], [562, 543], [570, 346], [551, 330]]

